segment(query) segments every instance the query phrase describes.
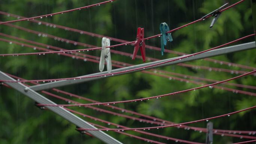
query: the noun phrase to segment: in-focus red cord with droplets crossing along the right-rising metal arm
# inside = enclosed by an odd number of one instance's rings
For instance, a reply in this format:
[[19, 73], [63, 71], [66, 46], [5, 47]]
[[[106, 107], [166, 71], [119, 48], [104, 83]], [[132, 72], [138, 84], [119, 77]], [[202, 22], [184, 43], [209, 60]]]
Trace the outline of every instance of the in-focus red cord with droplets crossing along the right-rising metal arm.
[[[43, 81], [57, 81], [57, 80], [71, 80], [71, 79], [74, 79], [74, 80], [75, 80], [75, 79], [84, 79], [84, 78], [89, 78], [89, 77], [101, 77], [101, 76], [109, 76], [109, 75], [112, 75], [112, 76], [113, 76], [114, 74], [121, 74], [121, 73], [129, 72], [129, 71], [141, 70], [141, 69], [144, 69], [144, 68], [149, 68], [149, 67], [153, 67], [153, 66], [156, 66], [156, 65], [161, 65], [161, 64], [168, 63], [168, 62], [177, 61], [177, 60], [181, 60], [181, 59], [188, 58], [188, 57], [191, 57], [191, 56], [195, 56], [195, 55], [198, 55], [198, 54], [201, 54], [201, 53], [204, 53], [204, 52], [208, 52], [208, 51], [213, 50], [213, 49], [221, 48], [221, 47], [223, 47], [223, 46], [229, 45], [229, 44], [234, 43], [234, 42], [238, 42], [238, 41], [240, 41], [240, 40], [243, 40], [243, 39], [246, 39], [247, 37], [252, 37], [252, 36], [255, 36], [255, 34], [250, 34], [250, 35], [248, 35], [248, 36], [242, 37], [242, 38], [240, 38], [240, 39], [234, 40], [234, 41], [229, 42], [229, 43], [225, 43], [225, 44], [220, 45], [220, 46], [217, 46], [217, 47], [215, 47], [215, 48], [211, 48], [211, 49], [204, 50], [204, 51], [201, 51], [201, 52], [193, 53], [193, 54], [190, 54], [190, 55], [181, 56], [180, 58], [171, 59], [171, 60], [169, 60], [169, 61], [160, 62], [160, 63], [158, 63], [158, 64], [147, 65], [147, 66], [144, 66], [144, 67], [134, 68], [134, 69], [131, 69], [131, 70], [125, 70], [125, 71], [120, 71], [120, 72], [116, 72], [116, 73], [100, 74], [100, 75], [97, 75], [97, 76], [72, 77], [72, 78], [64, 78], [64, 79], [23, 80], [23, 81], [19, 81], [19, 82], [43, 82]], [[13, 81], [13, 80], [0, 80], [0, 82], [18, 82], [18, 81]]]

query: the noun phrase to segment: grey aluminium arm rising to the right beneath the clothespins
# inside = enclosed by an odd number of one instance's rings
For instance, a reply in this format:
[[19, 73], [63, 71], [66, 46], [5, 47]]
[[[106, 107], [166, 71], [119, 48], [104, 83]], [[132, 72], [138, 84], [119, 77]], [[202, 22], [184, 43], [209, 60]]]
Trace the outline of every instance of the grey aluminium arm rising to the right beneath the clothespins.
[[[172, 61], [172, 62], [168, 62], [168, 63], [165, 63], [165, 64], [160, 64], [160, 65], [156, 65], [156, 66], [153, 66], [153, 67], [148, 67], [148, 68], [144, 68], [144, 69], [140, 69], [140, 70], [135, 70], [135, 71], [143, 71], [143, 70], [152, 69], [152, 68], [156, 68], [156, 67], [163, 67], [163, 66], [166, 66], [166, 65], [173, 65], [173, 64], [178, 64], [178, 63], [182, 63], [182, 62], [193, 61], [193, 60], [196, 60], [196, 59], [208, 58], [208, 57], [211, 57], [211, 56], [217, 56], [217, 55], [223, 55], [223, 54], [226, 54], [226, 53], [232, 53], [232, 52], [237, 52], [237, 51], [241, 51], [241, 50], [253, 49], [255, 47], [256, 47], [255, 42], [244, 43], [244, 44], [241, 44], [241, 45], [235, 45], [235, 46], [229, 46], [229, 47], [225, 47], [225, 48], [211, 50], [211, 51], [201, 53], [201, 54], [198, 54], [198, 55], [195, 55], [195, 56], [191, 56], [191, 57], [188, 57], [188, 58], [184, 58], [184, 59], [180, 59], [180, 60], [177, 60], [177, 61]], [[178, 57], [175, 57], [175, 58], [169, 58], [169, 59], [163, 59], [163, 60], [160, 60], [160, 61], [148, 62], [148, 63], [145, 63], [145, 64], [133, 65], [133, 66], [130, 66], [130, 67], [118, 68], [118, 69], [112, 70], [112, 73], [125, 71], [125, 70], [132, 70], [134, 68], [140, 68], [140, 67], [144, 67], [144, 66], [148, 66], [148, 65], [152, 65], [152, 64], [158, 64], [158, 63], [161, 63], [161, 62], [170, 61], [171, 59], [176, 59], [176, 58], [180, 58], [180, 57], [182, 57], [182, 56], [178, 56]], [[121, 74], [132, 73], [132, 72], [135, 72], [135, 71], [128, 71], [128, 72], [115, 74], [115, 75], [107, 75], [105, 77], [118, 76], [118, 75], [121, 75]], [[107, 71], [104, 71], [104, 72], [89, 74], [89, 75], [85, 75], [85, 76], [81, 76], [81, 77], [97, 76], [97, 75], [104, 75], [104, 74], [109, 74], [109, 73]], [[60, 81], [57, 81], [57, 82], [50, 82], [50, 83], [44, 83], [44, 84], [41, 84], [41, 85], [30, 86], [29, 88], [33, 89], [34, 91], [41, 91], [41, 90], [44, 90], [44, 89], [51, 89], [51, 88], [56, 88], [56, 87], [60, 87], [60, 86], [67, 86], [67, 85], [72, 85], [72, 84], [76, 84], [76, 83], [88, 82], [88, 81], [91, 81], [91, 80], [102, 79], [102, 78], [105, 78], [105, 77], [104, 76], [90, 77], [90, 78], [85, 78], [85, 79], [79, 79], [79, 77], [77, 77], [77, 79], [75, 79], [75, 80], [60, 80]]]

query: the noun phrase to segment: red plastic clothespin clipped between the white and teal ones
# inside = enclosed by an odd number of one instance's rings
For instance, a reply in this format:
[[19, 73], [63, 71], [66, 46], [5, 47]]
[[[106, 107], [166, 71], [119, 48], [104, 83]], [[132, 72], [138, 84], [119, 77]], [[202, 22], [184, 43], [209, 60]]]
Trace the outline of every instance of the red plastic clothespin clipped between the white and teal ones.
[[141, 39], [144, 39], [144, 28], [138, 28], [137, 30], [137, 37], [136, 37], [136, 42], [134, 44], [132, 60], [135, 59], [138, 49], [140, 48], [140, 53], [141, 53], [143, 62], [145, 62], [146, 61], [145, 42], [144, 40], [141, 40]]

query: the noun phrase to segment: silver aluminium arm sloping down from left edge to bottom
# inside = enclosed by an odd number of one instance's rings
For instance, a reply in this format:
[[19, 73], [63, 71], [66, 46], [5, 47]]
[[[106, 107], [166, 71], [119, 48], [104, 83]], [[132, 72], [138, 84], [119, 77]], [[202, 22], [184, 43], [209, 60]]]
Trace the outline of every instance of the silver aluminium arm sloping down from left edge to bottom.
[[[12, 77], [7, 76], [5, 73], [0, 71], [0, 79], [1, 80], [15, 80]], [[28, 96], [29, 98], [33, 99], [34, 101], [40, 103], [40, 104], [55, 104], [51, 100], [47, 99], [46, 97], [40, 95], [39, 93], [33, 91], [32, 89], [28, 88], [27, 86], [23, 85], [22, 83], [8, 83], [7, 85], [12, 87], [13, 89], [16, 89], [17, 91], [21, 92], [22, 94]], [[60, 115], [64, 119], [68, 120], [69, 122], [73, 123], [74, 125], [78, 126], [79, 128], [91, 128], [91, 129], [97, 129], [96, 127], [92, 126], [88, 122], [84, 121], [83, 119], [80, 119], [80, 117], [77, 117], [73, 113], [70, 113], [69, 111], [65, 110], [63, 107], [47, 107], [49, 110], [53, 111], [54, 113]], [[103, 131], [87, 131], [89, 134], [93, 135], [94, 137], [99, 138], [106, 144], [122, 144], [118, 140], [110, 137]]]

